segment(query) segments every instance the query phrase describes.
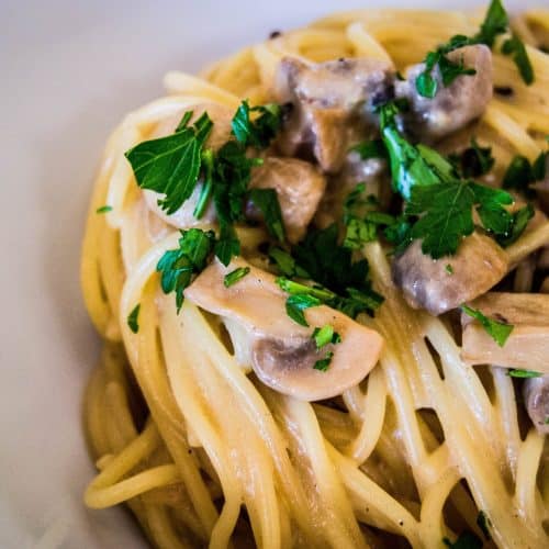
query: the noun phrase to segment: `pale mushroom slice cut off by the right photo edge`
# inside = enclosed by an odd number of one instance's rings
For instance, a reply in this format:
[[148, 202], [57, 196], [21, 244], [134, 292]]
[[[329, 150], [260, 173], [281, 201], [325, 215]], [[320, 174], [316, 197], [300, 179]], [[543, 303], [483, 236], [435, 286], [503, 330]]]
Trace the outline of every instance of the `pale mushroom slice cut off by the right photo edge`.
[[549, 373], [549, 295], [490, 292], [470, 306], [514, 328], [500, 347], [478, 321], [462, 314], [461, 358], [466, 362]]

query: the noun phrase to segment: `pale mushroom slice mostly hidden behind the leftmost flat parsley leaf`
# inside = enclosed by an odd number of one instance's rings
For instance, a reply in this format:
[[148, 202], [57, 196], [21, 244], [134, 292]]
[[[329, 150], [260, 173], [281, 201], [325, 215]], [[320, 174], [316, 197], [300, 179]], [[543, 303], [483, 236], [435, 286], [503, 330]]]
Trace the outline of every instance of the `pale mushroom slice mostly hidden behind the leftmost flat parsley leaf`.
[[[214, 125], [205, 146], [213, 149], [221, 147], [228, 139], [228, 136], [231, 134], [231, 109], [217, 103], [203, 103], [195, 105], [192, 111], [193, 116], [190, 122], [191, 124], [197, 121], [204, 112], [208, 112], [208, 114], [214, 122]], [[172, 134], [177, 125], [181, 121], [182, 115], [183, 112], [179, 112], [163, 120], [163, 122], [159, 123], [156, 126], [155, 131], [152, 133], [150, 138], [154, 139]], [[144, 197], [149, 210], [166, 223], [177, 228], [189, 228], [197, 225], [212, 224], [215, 221], [215, 210], [212, 203], [210, 203], [204, 212], [204, 215], [200, 220], [197, 220], [197, 217], [194, 217], [194, 209], [198, 204], [201, 191], [202, 181], [199, 180], [197, 187], [194, 188], [194, 191], [189, 197], [189, 199], [181, 205], [181, 208], [177, 212], [173, 212], [172, 214], [167, 214], [158, 205], [158, 199], [161, 199], [164, 197], [163, 194], [159, 194], [155, 191], [145, 190]]]

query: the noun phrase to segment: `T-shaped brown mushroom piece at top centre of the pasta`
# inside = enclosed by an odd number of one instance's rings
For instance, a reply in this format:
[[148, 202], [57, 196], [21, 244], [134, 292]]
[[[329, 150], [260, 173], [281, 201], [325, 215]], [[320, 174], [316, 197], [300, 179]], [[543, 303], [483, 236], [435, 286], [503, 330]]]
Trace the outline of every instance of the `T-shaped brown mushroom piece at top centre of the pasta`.
[[278, 139], [284, 155], [316, 158], [324, 171], [341, 167], [357, 134], [373, 128], [367, 113], [392, 97], [393, 68], [369, 58], [305, 64], [284, 57], [274, 77], [274, 97], [293, 105]]

